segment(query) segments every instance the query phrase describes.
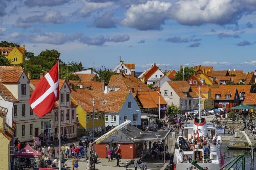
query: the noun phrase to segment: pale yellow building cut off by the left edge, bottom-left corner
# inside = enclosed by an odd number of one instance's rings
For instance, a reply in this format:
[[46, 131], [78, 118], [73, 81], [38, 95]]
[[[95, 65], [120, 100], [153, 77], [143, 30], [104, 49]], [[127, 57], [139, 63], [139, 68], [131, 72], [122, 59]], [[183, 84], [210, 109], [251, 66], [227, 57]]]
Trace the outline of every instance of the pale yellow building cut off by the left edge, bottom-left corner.
[[[0, 106], [0, 146], [1, 146], [1, 169], [9, 170], [11, 167], [11, 141], [13, 132], [10, 126], [6, 125], [6, 114], [8, 109]], [[15, 125], [15, 124], [14, 124]]]

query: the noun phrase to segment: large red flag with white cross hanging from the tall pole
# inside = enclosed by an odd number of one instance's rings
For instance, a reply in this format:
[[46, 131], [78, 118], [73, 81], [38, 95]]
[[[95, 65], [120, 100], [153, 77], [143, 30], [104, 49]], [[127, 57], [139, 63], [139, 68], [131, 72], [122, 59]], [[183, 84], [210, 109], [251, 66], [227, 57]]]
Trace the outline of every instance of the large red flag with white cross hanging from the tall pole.
[[57, 100], [59, 100], [58, 62], [39, 81], [29, 99], [29, 104], [36, 115], [41, 118], [52, 111]]

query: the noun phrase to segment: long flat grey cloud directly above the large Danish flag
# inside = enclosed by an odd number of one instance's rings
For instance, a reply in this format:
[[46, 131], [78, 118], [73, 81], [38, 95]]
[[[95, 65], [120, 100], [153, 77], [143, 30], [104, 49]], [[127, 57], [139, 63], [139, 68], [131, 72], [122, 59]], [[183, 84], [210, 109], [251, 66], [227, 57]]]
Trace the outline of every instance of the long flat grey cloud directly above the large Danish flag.
[[47, 43], [60, 45], [66, 42], [73, 42], [78, 40], [82, 36], [82, 33], [77, 32], [74, 34], [67, 35], [62, 32], [46, 32], [39, 35], [31, 35], [29, 41], [33, 43]]

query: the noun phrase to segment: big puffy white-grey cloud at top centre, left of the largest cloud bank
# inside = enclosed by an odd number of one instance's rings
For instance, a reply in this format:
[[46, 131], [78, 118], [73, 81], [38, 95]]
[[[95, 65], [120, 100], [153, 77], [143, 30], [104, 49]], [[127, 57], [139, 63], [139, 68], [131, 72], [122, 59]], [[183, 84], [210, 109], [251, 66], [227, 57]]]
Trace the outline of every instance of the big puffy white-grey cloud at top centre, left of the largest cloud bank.
[[165, 20], [169, 19], [169, 2], [148, 1], [145, 4], [131, 5], [120, 23], [139, 30], [161, 29]]

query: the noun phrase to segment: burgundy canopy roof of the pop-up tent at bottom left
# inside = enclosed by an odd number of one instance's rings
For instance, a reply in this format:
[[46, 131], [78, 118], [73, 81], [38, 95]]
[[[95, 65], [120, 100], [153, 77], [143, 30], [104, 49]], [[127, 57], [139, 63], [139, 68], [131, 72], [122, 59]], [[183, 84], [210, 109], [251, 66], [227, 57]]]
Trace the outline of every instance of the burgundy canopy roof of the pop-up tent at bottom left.
[[42, 153], [33, 149], [29, 144], [14, 154], [14, 158], [41, 158]]

